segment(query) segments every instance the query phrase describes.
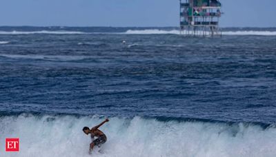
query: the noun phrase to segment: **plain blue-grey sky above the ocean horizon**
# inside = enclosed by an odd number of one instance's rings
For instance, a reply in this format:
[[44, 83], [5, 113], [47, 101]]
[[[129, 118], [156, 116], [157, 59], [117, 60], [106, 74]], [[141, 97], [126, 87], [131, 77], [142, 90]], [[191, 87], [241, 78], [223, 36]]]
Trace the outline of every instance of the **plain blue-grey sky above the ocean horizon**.
[[[276, 0], [221, 0], [223, 27], [276, 27]], [[178, 26], [179, 0], [0, 0], [0, 25]]]

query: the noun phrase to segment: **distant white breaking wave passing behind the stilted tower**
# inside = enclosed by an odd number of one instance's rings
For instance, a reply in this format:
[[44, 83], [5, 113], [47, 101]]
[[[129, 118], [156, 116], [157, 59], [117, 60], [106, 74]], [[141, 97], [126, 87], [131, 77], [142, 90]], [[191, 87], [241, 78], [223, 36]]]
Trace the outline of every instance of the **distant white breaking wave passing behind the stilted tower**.
[[[179, 30], [127, 30], [125, 34], [179, 34]], [[224, 31], [222, 34], [276, 36], [276, 32], [271, 31]]]

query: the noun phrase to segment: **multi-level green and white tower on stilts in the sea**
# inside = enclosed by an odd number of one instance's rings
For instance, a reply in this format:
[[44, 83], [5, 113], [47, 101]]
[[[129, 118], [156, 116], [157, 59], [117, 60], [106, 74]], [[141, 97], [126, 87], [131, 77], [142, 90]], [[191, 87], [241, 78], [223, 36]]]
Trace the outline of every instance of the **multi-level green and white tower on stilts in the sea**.
[[219, 0], [179, 0], [180, 34], [186, 36], [221, 36]]

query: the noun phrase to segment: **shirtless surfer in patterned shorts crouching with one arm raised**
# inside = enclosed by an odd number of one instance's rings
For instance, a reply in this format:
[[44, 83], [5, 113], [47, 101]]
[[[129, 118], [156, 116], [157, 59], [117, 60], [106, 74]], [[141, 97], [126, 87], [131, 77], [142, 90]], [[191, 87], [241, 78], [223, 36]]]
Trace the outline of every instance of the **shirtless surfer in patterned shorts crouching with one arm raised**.
[[[83, 132], [84, 134], [91, 134], [91, 139], [92, 139], [92, 143], [90, 143], [90, 147], [89, 147], [89, 154], [91, 154], [93, 147], [95, 147], [95, 145], [97, 146], [101, 146], [103, 143], [106, 143], [106, 135], [103, 134], [103, 132], [101, 132], [101, 130], [99, 130], [99, 127], [101, 127], [101, 125], [103, 125], [104, 123], [108, 122], [108, 118], [106, 118], [105, 121], [103, 121], [102, 123], [100, 123], [99, 125], [92, 127], [92, 129], [89, 129], [89, 127], [83, 127]], [[96, 140], [94, 140], [94, 137], [97, 137]]]

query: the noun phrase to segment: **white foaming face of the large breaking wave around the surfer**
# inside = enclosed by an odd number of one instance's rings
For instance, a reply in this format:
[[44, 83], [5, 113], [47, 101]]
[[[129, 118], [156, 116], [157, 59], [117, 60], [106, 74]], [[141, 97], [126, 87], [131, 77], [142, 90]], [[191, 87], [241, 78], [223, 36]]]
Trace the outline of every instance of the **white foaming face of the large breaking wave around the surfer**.
[[[1, 156], [89, 156], [89, 136], [83, 126], [103, 121], [96, 116], [2, 116], [0, 118]], [[92, 156], [276, 156], [276, 129], [256, 125], [161, 122], [135, 117], [110, 118], [101, 130], [108, 141], [103, 154]], [[19, 137], [20, 151], [6, 152], [5, 138]]]

